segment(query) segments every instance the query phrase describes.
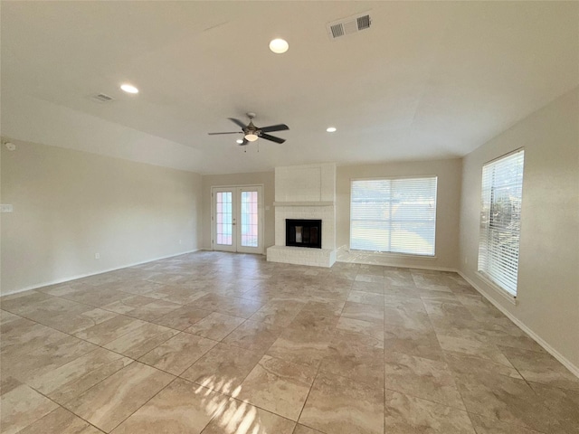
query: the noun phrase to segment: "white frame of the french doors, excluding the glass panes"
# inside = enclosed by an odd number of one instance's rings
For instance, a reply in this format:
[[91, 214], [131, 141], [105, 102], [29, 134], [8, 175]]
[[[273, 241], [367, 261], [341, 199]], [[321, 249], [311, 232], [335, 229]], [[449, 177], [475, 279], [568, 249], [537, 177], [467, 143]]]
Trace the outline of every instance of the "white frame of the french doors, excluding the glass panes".
[[[210, 187], [211, 189], [211, 250], [219, 250], [219, 251], [228, 251], [228, 250], [221, 250], [221, 249], [215, 249], [215, 238], [216, 238], [216, 227], [215, 227], [215, 195], [214, 192], [216, 189], [222, 190], [222, 189], [232, 189], [233, 190], [233, 194], [235, 198], [232, 199], [232, 206], [235, 212], [235, 215], [233, 216], [236, 220], [239, 220], [239, 222], [237, 222], [237, 225], [241, 224], [241, 219], [238, 219], [239, 215], [240, 215], [240, 204], [239, 204], [239, 197], [237, 196], [238, 194], [238, 189], [242, 189], [242, 188], [252, 188], [252, 187], [261, 187], [261, 201], [258, 201], [258, 219], [259, 219], [259, 224], [258, 224], [258, 237], [260, 240], [259, 243], [259, 247], [256, 248], [257, 250], [252, 250], [252, 251], [242, 251], [243, 247], [240, 245], [240, 243], [238, 242], [239, 239], [241, 238], [240, 236], [240, 231], [237, 231], [237, 229], [235, 230], [236, 234], [235, 234], [235, 246], [236, 249], [234, 250], [229, 250], [229, 251], [233, 251], [233, 252], [238, 252], [238, 253], [254, 253], [254, 254], [259, 254], [259, 255], [263, 255], [265, 254], [265, 239], [264, 239], [264, 234], [265, 234], [265, 214], [264, 214], [264, 209], [265, 209], [265, 186], [264, 184], [234, 184], [234, 185], [212, 185]], [[240, 250], [241, 249], [241, 250]], [[254, 248], [249, 248], [249, 249], [254, 249]]]

